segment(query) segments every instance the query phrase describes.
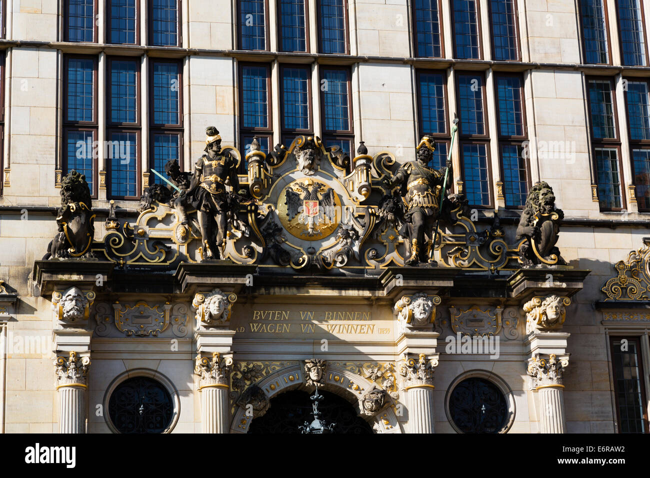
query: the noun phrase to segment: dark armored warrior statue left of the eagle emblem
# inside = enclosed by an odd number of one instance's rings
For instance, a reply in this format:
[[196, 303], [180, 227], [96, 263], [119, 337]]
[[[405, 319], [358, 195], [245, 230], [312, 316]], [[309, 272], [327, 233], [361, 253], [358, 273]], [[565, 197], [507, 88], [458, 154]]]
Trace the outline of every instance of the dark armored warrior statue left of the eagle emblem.
[[205, 129], [205, 154], [196, 161], [192, 185], [185, 193], [192, 198], [201, 227], [203, 259], [218, 259], [218, 248], [224, 245], [231, 200], [226, 181], [233, 191], [239, 190], [237, 159], [221, 152], [221, 137], [214, 126]]

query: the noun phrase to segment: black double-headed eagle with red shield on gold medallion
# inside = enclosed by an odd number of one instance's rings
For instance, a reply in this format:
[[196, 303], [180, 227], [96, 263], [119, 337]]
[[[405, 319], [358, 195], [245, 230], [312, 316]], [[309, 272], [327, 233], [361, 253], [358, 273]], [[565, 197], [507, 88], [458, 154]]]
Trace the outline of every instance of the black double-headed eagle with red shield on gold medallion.
[[[294, 187], [300, 188], [300, 191], [296, 191]], [[301, 234], [318, 234], [320, 231], [316, 230], [317, 226], [331, 224], [336, 220], [334, 190], [323, 183], [312, 179], [295, 183], [285, 189], [285, 196], [287, 219], [291, 222], [297, 215], [298, 223], [307, 226], [307, 230]]]

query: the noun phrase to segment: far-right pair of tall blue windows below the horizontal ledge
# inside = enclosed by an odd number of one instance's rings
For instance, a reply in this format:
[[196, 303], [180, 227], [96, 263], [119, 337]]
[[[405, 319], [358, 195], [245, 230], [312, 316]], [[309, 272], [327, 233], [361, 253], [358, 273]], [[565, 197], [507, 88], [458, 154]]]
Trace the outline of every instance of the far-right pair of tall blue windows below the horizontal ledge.
[[[627, 136], [639, 211], [650, 211], [650, 82], [623, 79]], [[611, 77], [588, 77], [591, 145], [598, 200], [604, 211], [626, 208], [623, 193], [621, 128], [617, 117], [615, 85]], [[626, 121], [622, 118], [622, 121]]]

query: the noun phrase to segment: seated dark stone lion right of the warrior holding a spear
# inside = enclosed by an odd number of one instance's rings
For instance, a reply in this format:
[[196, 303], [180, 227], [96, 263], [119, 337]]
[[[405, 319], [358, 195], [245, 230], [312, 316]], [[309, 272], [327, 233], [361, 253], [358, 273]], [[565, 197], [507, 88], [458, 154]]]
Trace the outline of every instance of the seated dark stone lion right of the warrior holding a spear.
[[519, 261], [523, 265], [566, 264], [555, 246], [562, 219], [564, 212], [555, 207], [555, 195], [549, 183], [539, 181], [530, 188], [517, 226], [517, 241], [525, 239], [519, 248]]

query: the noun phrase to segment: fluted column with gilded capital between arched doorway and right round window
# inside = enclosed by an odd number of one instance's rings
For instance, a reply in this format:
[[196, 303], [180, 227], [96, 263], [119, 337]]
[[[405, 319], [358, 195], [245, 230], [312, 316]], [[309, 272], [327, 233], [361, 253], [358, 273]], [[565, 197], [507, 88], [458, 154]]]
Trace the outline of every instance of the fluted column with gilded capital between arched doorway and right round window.
[[438, 355], [418, 360], [402, 356], [398, 368], [402, 390], [407, 393], [409, 433], [434, 433], [434, 370]]

